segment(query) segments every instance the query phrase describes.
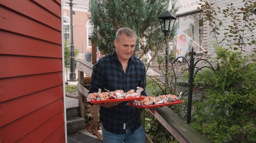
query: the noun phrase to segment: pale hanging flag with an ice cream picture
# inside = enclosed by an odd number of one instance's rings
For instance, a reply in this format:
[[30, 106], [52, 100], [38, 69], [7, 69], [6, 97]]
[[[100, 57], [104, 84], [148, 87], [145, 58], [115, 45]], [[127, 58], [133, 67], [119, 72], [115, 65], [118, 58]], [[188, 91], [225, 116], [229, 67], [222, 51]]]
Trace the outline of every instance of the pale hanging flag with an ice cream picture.
[[[189, 38], [185, 33], [183, 33], [180, 29], [177, 30], [177, 44], [176, 44], [176, 58], [179, 56], [185, 56], [187, 50], [189, 49], [189, 42], [191, 38]], [[182, 58], [178, 59], [182, 61]]]

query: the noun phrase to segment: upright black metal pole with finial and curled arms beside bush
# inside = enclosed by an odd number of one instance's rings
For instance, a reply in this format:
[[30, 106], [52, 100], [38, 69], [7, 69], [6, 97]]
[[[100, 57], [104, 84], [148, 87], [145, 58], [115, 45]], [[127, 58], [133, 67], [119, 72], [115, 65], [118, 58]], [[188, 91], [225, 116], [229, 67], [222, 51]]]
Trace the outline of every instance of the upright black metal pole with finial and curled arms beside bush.
[[189, 52], [190, 63], [189, 63], [189, 81], [188, 81], [188, 105], [187, 105], [187, 123], [189, 124], [191, 121], [191, 107], [192, 107], [192, 94], [193, 94], [193, 86], [194, 86], [194, 49]]

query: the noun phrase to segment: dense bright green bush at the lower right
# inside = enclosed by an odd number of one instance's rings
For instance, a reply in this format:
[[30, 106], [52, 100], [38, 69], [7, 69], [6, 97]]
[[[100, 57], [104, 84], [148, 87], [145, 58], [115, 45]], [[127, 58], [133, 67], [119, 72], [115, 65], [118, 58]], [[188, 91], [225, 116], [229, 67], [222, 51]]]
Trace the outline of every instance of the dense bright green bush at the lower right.
[[190, 125], [210, 142], [256, 142], [256, 63], [252, 56], [216, 47], [220, 70], [205, 70], [204, 96], [194, 104]]

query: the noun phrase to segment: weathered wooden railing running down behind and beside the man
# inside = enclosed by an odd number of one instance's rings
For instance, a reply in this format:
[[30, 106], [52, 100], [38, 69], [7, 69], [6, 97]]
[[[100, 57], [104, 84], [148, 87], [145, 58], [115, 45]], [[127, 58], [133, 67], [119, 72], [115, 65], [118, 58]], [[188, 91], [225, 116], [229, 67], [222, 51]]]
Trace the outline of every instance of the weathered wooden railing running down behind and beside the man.
[[[93, 64], [76, 60], [76, 69], [78, 70], [78, 100], [79, 100], [79, 113], [81, 118], [85, 118], [85, 99], [88, 96], [89, 90], [84, 87], [84, 72], [92, 75]], [[154, 96], [146, 89], [148, 96]], [[98, 125], [97, 105], [93, 105], [93, 121], [94, 127]], [[145, 123], [145, 110], [139, 109], [141, 114], [142, 123]], [[152, 113], [152, 112], [151, 112]], [[153, 113], [152, 113], [153, 114]], [[162, 107], [155, 111], [153, 114], [156, 119], [180, 142], [180, 143], [208, 143], [208, 141], [200, 135], [196, 130], [190, 127], [184, 120], [175, 114], [170, 108]]]

